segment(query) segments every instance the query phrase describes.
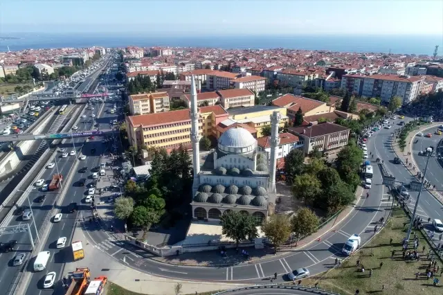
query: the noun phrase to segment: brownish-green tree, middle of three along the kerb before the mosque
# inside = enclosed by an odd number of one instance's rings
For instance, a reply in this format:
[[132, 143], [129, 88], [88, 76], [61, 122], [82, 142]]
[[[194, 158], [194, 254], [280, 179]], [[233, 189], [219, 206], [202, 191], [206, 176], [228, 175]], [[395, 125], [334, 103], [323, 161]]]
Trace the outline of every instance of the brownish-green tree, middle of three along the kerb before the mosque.
[[266, 222], [262, 224], [262, 231], [275, 247], [275, 252], [278, 247], [286, 242], [291, 235], [292, 226], [288, 215], [274, 214], [269, 217]]

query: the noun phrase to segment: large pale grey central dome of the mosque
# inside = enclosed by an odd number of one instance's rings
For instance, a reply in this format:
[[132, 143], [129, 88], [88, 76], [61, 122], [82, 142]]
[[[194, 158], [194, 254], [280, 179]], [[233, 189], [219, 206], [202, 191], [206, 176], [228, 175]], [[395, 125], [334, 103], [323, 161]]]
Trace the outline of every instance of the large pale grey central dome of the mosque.
[[247, 154], [255, 150], [257, 140], [248, 130], [235, 127], [221, 134], [218, 147], [219, 150], [228, 154]]

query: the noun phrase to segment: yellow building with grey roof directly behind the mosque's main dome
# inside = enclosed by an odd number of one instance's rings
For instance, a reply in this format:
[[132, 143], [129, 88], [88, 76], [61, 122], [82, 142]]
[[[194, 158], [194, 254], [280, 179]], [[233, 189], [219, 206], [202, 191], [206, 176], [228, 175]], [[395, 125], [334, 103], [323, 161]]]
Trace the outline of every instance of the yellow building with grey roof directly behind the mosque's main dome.
[[[271, 126], [271, 114], [273, 111], [280, 111], [282, 119], [280, 120], [280, 127], [289, 123], [287, 116], [287, 109], [284, 107], [275, 107], [267, 105], [256, 105], [254, 107], [241, 107], [236, 109], [229, 109], [229, 119], [232, 122], [224, 122], [225, 125], [230, 123], [240, 123], [248, 125], [257, 130], [257, 138], [263, 136], [262, 129], [265, 126]], [[222, 123], [223, 124], [223, 123]]]

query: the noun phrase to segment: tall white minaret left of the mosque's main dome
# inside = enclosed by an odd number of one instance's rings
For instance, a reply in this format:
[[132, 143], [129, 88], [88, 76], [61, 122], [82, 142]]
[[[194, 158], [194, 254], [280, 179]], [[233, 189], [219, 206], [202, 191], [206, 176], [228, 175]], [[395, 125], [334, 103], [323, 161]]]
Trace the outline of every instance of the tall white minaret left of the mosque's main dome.
[[200, 113], [197, 108], [197, 90], [195, 89], [195, 78], [192, 75], [191, 78], [191, 141], [192, 141], [192, 163], [194, 166], [194, 183], [192, 185], [193, 193], [197, 190], [199, 186], [199, 173], [200, 173], [200, 134], [199, 134], [199, 118]]

